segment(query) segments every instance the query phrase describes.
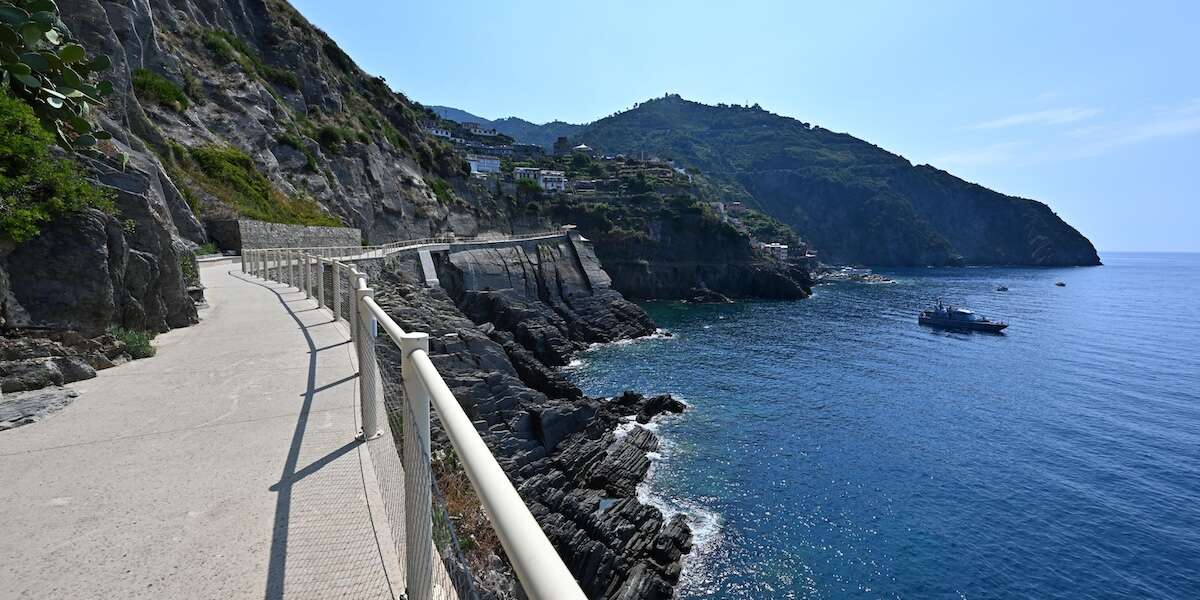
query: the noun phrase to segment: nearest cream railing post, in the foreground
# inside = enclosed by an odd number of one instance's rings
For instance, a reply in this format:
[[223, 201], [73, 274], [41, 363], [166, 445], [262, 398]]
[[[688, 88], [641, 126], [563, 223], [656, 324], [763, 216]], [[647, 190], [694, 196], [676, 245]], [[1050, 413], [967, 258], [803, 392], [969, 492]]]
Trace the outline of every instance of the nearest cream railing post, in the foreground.
[[430, 464], [430, 391], [413, 365], [413, 353], [430, 350], [427, 334], [400, 338], [404, 379], [404, 556], [409, 600], [433, 598], [433, 488]]

